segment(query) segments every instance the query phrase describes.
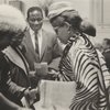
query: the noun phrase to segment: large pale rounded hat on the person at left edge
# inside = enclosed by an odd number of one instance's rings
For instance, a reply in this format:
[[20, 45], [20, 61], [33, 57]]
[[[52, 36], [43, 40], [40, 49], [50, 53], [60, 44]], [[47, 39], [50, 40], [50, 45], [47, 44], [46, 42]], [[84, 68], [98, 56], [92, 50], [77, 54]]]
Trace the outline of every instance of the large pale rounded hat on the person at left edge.
[[28, 26], [24, 15], [16, 8], [9, 4], [0, 6], [0, 35], [14, 35], [23, 32]]

